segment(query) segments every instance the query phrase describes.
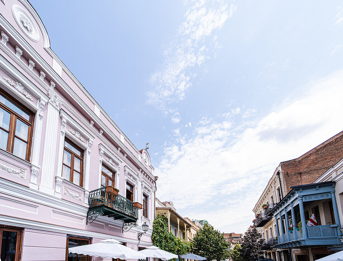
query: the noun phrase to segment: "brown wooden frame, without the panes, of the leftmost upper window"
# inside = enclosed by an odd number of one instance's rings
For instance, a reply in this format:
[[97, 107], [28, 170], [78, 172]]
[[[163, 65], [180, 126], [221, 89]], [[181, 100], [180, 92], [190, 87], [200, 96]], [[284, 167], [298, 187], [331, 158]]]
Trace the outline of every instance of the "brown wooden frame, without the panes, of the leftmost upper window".
[[[24, 117], [20, 116], [16, 112], [12, 111], [9, 107], [6, 105], [2, 104], [0, 102], [0, 107], [7, 111], [8, 113], [11, 114], [10, 116], [10, 126], [9, 130], [5, 130], [2, 127], [0, 127], [1, 130], [5, 131], [8, 133], [8, 139], [7, 139], [7, 148], [6, 151], [13, 154], [13, 148], [14, 148], [14, 138], [17, 138], [25, 143], [26, 145], [26, 154], [24, 160], [30, 161], [31, 157], [31, 147], [32, 147], [32, 136], [33, 136], [33, 127], [34, 127], [34, 116], [35, 114], [31, 112], [29, 109], [24, 107], [21, 103], [16, 101], [12, 96], [10, 96], [8, 93], [5, 93], [3, 90], [0, 89], [0, 94], [5, 97], [5, 99], [9, 100], [12, 102], [14, 105], [18, 106], [20, 109], [22, 109], [24, 112], [30, 115], [29, 120], [26, 120]], [[15, 127], [16, 127], [16, 119], [19, 119], [23, 121], [25, 124], [28, 125], [28, 133], [27, 133], [27, 142], [21, 139], [20, 137], [15, 136]], [[13, 154], [14, 155], [14, 154]], [[16, 157], [19, 157], [17, 155], [14, 155]], [[21, 157], [19, 157], [21, 158]]]

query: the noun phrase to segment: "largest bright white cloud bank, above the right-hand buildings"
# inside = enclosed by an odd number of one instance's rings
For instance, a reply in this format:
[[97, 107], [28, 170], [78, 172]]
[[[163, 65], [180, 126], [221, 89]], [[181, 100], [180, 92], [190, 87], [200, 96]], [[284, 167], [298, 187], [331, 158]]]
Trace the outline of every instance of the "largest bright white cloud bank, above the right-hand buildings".
[[[207, 219], [225, 232], [244, 232], [252, 208], [279, 162], [299, 157], [342, 131], [343, 70], [311, 82], [255, 121], [203, 117], [190, 137], [163, 148], [155, 174], [157, 197], [189, 218]], [[246, 110], [248, 114], [254, 110]], [[177, 189], [170, 189], [171, 187]]]

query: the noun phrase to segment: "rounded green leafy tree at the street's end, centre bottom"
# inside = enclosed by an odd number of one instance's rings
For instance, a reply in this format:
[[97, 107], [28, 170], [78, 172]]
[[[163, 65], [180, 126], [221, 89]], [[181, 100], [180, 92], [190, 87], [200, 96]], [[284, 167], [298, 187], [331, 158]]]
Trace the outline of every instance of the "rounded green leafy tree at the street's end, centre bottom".
[[213, 226], [205, 224], [193, 238], [193, 253], [208, 260], [225, 260], [229, 257], [230, 244]]

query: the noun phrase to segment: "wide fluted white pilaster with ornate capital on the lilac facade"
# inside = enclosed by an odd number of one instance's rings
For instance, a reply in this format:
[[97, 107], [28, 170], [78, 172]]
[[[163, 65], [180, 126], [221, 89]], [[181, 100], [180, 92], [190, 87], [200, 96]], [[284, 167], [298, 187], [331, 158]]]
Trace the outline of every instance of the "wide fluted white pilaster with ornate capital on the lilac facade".
[[59, 107], [62, 104], [62, 100], [51, 89], [49, 89], [49, 97], [50, 100], [48, 102], [48, 115], [44, 141], [42, 177], [40, 179], [39, 190], [44, 193], [54, 195], [54, 189], [52, 188], [52, 185], [54, 182], [54, 170], [56, 160]]

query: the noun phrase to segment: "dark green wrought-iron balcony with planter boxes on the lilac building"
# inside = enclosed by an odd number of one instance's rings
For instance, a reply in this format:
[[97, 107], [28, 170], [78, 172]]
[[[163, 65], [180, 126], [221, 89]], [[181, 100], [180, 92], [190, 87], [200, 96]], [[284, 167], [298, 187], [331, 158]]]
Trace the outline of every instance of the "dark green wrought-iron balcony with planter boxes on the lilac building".
[[136, 222], [138, 209], [133, 202], [120, 195], [106, 192], [106, 188], [98, 188], [89, 193], [87, 223], [92, 223], [98, 216], [108, 216], [124, 223]]

